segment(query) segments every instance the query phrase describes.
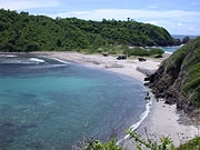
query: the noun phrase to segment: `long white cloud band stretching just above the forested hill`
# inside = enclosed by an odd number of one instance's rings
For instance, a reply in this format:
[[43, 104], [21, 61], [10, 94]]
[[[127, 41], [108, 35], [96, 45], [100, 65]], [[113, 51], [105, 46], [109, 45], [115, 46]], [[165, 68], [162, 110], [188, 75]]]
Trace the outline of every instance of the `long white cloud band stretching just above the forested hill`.
[[117, 19], [126, 20], [127, 18], [132, 19], [147, 19], [147, 18], [162, 18], [162, 19], [187, 19], [198, 18], [200, 19], [200, 12], [198, 11], [156, 11], [156, 10], [131, 10], [131, 9], [97, 9], [91, 11], [69, 11], [63, 13], [52, 14], [51, 17], [77, 17], [82, 19], [101, 20], [104, 19]]

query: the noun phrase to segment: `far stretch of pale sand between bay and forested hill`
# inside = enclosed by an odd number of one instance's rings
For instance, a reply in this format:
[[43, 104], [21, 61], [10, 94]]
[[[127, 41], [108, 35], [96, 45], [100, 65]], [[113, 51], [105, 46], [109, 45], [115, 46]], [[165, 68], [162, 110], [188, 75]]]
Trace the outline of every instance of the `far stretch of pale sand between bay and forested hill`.
[[[69, 62], [81, 63], [89, 68], [103, 69], [124, 76], [129, 76], [144, 82], [146, 70], [147, 73], [156, 71], [160, 66], [162, 59], [147, 59], [147, 61], [139, 61], [137, 58], [117, 60], [117, 57], [103, 57], [101, 54], [82, 54], [77, 52], [32, 52], [38, 56], [46, 56], [57, 58]], [[138, 70], [142, 70], [138, 71]]]

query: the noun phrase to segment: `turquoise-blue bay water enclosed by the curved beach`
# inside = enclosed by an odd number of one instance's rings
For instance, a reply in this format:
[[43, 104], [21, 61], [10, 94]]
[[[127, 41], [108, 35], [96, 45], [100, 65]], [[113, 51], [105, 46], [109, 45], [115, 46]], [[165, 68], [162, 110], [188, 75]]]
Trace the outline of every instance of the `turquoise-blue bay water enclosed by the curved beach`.
[[119, 139], [146, 110], [137, 80], [73, 63], [0, 57], [0, 149], [71, 150], [83, 136]]

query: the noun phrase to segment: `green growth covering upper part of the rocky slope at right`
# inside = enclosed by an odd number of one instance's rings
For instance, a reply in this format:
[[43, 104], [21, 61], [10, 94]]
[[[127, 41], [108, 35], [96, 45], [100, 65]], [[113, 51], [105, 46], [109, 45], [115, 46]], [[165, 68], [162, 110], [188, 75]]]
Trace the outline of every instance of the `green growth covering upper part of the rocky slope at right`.
[[190, 99], [192, 106], [200, 108], [200, 38], [189, 42], [178, 53], [180, 69], [187, 71], [182, 83], [183, 100]]

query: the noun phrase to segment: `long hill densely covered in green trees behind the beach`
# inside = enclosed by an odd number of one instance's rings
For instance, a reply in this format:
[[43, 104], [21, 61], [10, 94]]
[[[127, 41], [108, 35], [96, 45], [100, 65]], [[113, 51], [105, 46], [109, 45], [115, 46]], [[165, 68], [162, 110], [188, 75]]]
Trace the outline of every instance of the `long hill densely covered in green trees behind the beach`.
[[174, 46], [180, 40], [157, 26], [127, 21], [51, 19], [0, 10], [0, 51], [97, 50], [104, 46]]

